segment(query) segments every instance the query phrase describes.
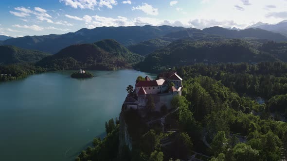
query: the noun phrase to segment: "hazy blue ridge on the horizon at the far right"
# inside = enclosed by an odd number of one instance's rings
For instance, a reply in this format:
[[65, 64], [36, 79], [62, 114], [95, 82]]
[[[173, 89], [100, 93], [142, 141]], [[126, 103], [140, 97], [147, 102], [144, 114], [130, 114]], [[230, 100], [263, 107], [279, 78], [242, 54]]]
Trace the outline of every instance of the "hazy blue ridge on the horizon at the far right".
[[268, 39], [276, 42], [287, 41], [287, 37], [275, 32], [270, 32], [262, 29], [245, 29], [245, 30], [228, 30], [221, 27], [211, 27], [202, 30], [203, 32], [213, 34], [213, 35], [221, 35], [226, 38], [248, 38], [253, 37], [257, 39]]

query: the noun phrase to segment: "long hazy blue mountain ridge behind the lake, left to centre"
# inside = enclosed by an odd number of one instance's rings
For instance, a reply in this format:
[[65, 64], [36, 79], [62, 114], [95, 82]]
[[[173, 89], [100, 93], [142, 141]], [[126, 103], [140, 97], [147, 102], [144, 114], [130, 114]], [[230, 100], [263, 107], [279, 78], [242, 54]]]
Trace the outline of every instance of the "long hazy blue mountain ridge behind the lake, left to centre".
[[49, 53], [57, 53], [62, 48], [73, 44], [93, 43], [102, 39], [115, 39], [117, 42], [129, 46], [145, 40], [158, 38], [169, 32], [183, 30], [183, 27], [171, 26], [130, 26], [130, 27], [97, 27], [94, 29], [81, 29], [66, 34], [24, 36], [8, 39], [3, 45], [14, 45], [20, 48], [36, 49]]

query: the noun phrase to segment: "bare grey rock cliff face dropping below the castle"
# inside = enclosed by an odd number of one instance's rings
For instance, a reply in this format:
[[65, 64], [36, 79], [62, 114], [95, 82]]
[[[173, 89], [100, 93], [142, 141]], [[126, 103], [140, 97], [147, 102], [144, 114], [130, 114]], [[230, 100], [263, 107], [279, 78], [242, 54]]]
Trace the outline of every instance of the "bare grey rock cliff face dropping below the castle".
[[127, 124], [123, 112], [120, 114], [120, 148], [127, 146], [129, 150], [132, 150], [132, 138], [127, 131]]

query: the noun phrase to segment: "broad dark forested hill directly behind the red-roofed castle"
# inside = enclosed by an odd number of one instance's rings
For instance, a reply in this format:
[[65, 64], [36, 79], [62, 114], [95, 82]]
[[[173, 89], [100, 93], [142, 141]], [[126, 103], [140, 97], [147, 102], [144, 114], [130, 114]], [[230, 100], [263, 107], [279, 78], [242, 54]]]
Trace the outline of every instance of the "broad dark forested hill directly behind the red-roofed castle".
[[147, 55], [136, 67], [143, 71], [156, 72], [195, 63], [252, 63], [275, 60], [274, 56], [257, 50], [257, 44], [245, 40], [210, 42], [183, 39]]

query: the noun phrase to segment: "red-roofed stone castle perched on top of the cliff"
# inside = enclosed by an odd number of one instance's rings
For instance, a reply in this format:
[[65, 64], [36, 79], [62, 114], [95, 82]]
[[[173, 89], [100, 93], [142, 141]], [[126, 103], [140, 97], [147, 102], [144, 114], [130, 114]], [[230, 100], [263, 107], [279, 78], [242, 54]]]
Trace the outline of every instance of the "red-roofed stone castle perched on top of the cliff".
[[155, 103], [155, 111], [161, 111], [162, 107], [171, 109], [173, 97], [181, 96], [182, 79], [176, 72], [161, 73], [157, 80], [151, 80], [147, 76], [144, 79], [135, 84], [133, 93], [127, 95], [124, 110], [146, 109], [149, 97], [152, 97]]

